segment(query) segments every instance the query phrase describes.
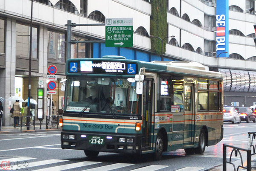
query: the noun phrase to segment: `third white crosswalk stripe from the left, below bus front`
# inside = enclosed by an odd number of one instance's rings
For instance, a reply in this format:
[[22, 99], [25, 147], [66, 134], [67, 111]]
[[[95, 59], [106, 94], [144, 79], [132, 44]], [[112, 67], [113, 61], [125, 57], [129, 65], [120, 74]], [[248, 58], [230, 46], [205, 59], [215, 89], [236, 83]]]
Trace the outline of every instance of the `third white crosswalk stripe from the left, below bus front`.
[[82, 166], [95, 165], [99, 163], [102, 163], [102, 162], [76, 162], [76, 163], [71, 163], [67, 165], [59, 165], [59, 166], [54, 166], [50, 168], [42, 168], [34, 171], [63, 171], [71, 168], [79, 168]]

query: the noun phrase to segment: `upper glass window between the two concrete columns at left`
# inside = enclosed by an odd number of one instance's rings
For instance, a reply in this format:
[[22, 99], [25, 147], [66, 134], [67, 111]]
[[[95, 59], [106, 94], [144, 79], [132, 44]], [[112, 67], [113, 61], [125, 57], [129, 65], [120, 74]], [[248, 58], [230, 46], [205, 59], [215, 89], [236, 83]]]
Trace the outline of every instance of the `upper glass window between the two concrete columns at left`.
[[[30, 27], [16, 23], [16, 56], [29, 58]], [[37, 28], [32, 28], [32, 58], [37, 58]]]

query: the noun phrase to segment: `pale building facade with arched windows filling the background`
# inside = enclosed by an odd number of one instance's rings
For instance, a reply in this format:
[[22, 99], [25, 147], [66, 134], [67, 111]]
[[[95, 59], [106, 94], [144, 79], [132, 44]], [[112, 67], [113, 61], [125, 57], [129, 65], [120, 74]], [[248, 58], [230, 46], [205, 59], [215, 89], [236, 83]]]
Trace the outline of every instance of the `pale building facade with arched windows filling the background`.
[[[29, 34], [31, 0], [0, 1], [0, 98], [4, 105], [3, 125], [12, 125], [10, 96], [28, 94]], [[229, 58], [216, 52], [215, 0], [166, 0], [168, 38], [165, 61], [196, 61], [224, 75], [224, 102], [247, 106], [256, 102], [256, 51], [253, 24], [256, 17], [254, 0], [229, 2]], [[45, 88], [47, 111], [47, 67], [54, 64], [57, 72], [57, 94], [53, 95], [54, 112], [63, 106], [67, 20], [73, 23], [104, 23], [105, 18], [133, 18], [134, 46], [105, 47], [104, 43], [79, 43], [71, 47], [71, 58], [101, 58], [122, 55], [127, 59], [160, 61], [151, 52], [150, 0], [34, 0], [32, 28], [31, 95], [37, 100], [38, 81]], [[104, 40], [105, 26], [79, 26], [72, 29], [73, 40]], [[156, 35], [155, 35], [156, 36]]]

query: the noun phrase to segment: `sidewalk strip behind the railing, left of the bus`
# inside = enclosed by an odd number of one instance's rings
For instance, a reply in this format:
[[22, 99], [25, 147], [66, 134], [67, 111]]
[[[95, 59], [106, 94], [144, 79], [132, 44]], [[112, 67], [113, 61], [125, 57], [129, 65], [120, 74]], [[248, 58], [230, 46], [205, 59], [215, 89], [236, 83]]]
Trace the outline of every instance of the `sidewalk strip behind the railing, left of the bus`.
[[44, 132], [44, 131], [54, 131], [54, 130], [61, 130], [61, 127], [57, 126], [52, 127], [52, 126], [48, 126], [48, 129], [45, 129], [46, 125], [45, 123], [42, 123], [41, 129], [40, 129], [40, 125], [36, 123], [35, 125], [35, 130], [34, 130], [34, 126], [31, 125], [30, 126], [30, 130], [26, 130], [26, 127], [23, 126], [22, 130], [20, 130], [20, 127], [13, 127], [13, 126], [1, 126], [1, 130], [0, 130], [0, 134], [7, 134], [7, 133], [27, 133], [27, 132]]

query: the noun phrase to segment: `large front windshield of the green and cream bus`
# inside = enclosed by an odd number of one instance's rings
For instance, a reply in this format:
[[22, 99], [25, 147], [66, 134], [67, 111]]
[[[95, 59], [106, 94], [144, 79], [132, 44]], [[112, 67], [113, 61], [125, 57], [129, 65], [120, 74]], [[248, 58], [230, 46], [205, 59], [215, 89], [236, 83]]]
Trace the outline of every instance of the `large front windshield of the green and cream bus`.
[[126, 78], [68, 77], [66, 112], [138, 115], [141, 95]]

